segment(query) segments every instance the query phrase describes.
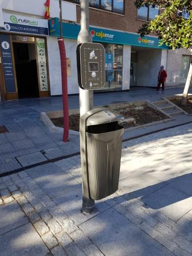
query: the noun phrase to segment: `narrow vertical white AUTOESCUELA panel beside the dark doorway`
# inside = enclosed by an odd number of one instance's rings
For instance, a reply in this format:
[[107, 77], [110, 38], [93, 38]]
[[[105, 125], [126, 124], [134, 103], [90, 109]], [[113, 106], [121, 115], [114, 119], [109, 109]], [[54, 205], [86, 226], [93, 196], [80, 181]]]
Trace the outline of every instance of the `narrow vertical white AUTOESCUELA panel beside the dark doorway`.
[[48, 90], [47, 80], [47, 61], [46, 61], [46, 50], [45, 40], [43, 38], [37, 38], [37, 56], [38, 56], [38, 67], [39, 67], [39, 80], [40, 90], [45, 92]]

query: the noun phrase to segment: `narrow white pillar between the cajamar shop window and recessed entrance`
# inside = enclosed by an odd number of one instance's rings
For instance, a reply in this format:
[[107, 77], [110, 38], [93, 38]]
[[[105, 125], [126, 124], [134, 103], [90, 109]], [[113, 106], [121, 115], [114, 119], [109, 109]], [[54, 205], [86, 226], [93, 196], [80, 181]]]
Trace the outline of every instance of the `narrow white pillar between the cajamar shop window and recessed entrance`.
[[131, 46], [123, 46], [122, 90], [130, 89]]

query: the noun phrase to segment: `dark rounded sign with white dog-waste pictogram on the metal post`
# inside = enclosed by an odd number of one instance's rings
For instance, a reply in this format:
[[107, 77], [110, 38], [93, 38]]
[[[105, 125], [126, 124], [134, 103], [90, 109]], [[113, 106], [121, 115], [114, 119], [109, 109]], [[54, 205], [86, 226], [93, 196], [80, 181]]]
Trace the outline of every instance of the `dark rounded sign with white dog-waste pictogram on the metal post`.
[[105, 48], [98, 43], [77, 46], [78, 84], [85, 90], [98, 90], [105, 86]]

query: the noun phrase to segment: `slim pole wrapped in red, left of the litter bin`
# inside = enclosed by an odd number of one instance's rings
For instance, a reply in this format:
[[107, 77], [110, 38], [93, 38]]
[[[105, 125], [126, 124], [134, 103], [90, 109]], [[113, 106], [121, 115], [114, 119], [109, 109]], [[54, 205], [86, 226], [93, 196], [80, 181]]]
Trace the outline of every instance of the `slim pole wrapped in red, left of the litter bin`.
[[68, 107], [68, 77], [66, 72], [66, 51], [64, 38], [58, 38], [60, 59], [61, 59], [61, 81], [62, 81], [62, 108], [64, 115], [63, 142], [68, 142], [69, 136], [69, 107]]

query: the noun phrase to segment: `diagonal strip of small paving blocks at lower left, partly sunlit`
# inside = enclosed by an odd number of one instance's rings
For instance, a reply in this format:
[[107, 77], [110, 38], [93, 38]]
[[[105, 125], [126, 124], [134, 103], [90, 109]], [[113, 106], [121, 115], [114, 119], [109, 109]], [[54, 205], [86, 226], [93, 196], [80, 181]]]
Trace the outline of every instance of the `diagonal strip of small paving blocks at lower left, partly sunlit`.
[[[47, 201], [39, 200], [39, 193]], [[27, 172], [2, 177], [0, 195], [0, 205], [19, 204], [52, 255], [103, 255]]]

